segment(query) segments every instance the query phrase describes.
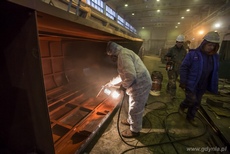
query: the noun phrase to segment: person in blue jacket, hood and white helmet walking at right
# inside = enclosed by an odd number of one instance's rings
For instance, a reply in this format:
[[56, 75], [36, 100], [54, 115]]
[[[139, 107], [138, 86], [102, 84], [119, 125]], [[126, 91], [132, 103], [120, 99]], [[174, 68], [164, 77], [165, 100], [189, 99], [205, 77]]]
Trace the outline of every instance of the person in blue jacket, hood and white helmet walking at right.
[[179, 86], [185, 90], [185, 99], [178, 112], [183, 115], [188, 109], [186, 119], [196, 127], [194, 118], [205, 91], [218, 92], [220, 37], [217, 32], [209, 32], [203, 39], [198, 48], [188, 52], [180, 67]]

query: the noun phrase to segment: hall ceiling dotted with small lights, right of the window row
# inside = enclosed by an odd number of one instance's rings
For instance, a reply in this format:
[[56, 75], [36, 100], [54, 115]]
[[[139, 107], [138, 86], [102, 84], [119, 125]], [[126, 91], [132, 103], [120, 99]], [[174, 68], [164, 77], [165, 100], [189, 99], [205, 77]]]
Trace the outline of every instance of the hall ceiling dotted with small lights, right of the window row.
[[[103, 0], [137, 30], [177, 28], [181, 32], [229, 14], [229, 0]], [[125, 6], [126, 5], [126, 6]], [[229, 16], [228, 16], [229, 18]]]

